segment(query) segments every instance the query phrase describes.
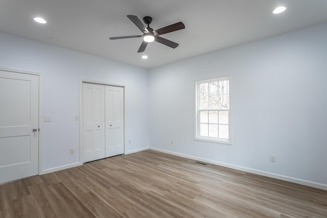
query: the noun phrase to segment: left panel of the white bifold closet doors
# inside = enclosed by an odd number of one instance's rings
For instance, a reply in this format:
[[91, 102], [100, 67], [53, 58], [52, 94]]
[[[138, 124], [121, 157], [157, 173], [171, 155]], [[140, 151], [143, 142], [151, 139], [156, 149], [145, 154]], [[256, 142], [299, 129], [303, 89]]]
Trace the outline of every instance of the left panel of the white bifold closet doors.
[[105, 157], [104, 85], [83, 83], [84, 162]]

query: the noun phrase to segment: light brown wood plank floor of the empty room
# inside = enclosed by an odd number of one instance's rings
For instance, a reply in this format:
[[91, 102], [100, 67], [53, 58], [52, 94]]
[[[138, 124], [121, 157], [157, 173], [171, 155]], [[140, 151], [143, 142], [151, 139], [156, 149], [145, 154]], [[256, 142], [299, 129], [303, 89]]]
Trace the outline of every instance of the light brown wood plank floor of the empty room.
[[327, 217], [327, 191], [147, 150], [1, 185], [0, 217]]

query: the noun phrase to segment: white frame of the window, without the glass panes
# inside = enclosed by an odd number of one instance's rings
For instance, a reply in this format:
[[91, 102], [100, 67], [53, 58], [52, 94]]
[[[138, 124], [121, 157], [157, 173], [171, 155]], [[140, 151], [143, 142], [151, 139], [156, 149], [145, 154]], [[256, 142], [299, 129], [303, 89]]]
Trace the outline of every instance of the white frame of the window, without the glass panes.
[[[208, 137], [208, 136], [200, 136], [200, 111], [203, 111], [203, 109], [199, 108], [200, 104], [200, 91], [199, 87], [201, 83], [209, 83], [209, 82], [216, 82], [216, 81], [229, 81], [229, 109], [205, 109], [207, 111], [214, 110], [214, 111], [220, 111], [220, 110], [228, 110], [228, 139], [224, 138], [216, 138], [216, 137]], [[232, 144], [232, 131], [231, 131], [231, 78], [230, 76], [224, 76], [224, 77], [218, 77], [218, 78], [212, 78], [212, 79], [202, 79], [195, 81], [195, 119], [194, 119], [194, 140], [200, 140], [200, 141], [209, 141], [209, 142], [215, 142], [215, 143], [223, 143], [223, 144]]]

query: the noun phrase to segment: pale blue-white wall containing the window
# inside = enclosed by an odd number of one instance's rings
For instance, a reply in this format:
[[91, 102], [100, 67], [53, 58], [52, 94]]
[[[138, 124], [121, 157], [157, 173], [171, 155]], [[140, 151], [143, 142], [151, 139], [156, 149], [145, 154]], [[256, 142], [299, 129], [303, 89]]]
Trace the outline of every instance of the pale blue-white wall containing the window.
[[[326, 39], [324, 23], [151, 69], [149, 146], [327, 188]], [[195, 141], [194, 81], [225, 75], [232, 146]]]

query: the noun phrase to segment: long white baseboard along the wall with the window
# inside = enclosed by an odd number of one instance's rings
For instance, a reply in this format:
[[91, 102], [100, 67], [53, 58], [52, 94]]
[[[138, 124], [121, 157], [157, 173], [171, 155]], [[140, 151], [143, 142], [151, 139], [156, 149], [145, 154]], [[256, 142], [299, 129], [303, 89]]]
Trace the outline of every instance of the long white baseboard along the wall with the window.
[[319, 189], [327, 190], [327, 185], [322, 184], [322, 183], [297, 179], [297, 178], [283, 176], [283, 175], [279, 175], [279, 174], [273, 174], [273, 173], [269, 173], [269, 172], [265, 172], [265, 171], [259, 171], [258, 169], [253, 169], [253, 168], [248, 168], [248, 167], [223, 163], [223, 162], [219, 162], [219, 161], [215, 161], [215, 160], [199, 158], [199, 157], [195, 157], [195, 156], [191, 156], [191, 155], [185, 155], [185, 154], [181, 154], [181, 153], [177, 153], [177, 152], [171, 152], [171, 151], [152, 148], [152, 147], [149, 147], [149, 150], [162, 152], [162, 153], [166, 153], [166, 154], [171, 154], [171, 155], [175, 155], [175, 156], [179, 156], [179, 157], [189, 158], [189, 159], [192, 159], [192, 160], [202, 161], [202, 162], [206, 162], [206, 163], [211, 163], [211, 164], [215, 164], [215, 165], [218, 165], [218, 166], [224, 166], [224, 167], [228, 167], [228, 168], [232, 168], [232, 169], [237, 169], [239, 171], [252, 173], [252, 174], [256, 174], [256, 175], [260, 175], [260, 176], [266, 176], [266, 177], [279, 179], [279, 180], [283, 180], [283, 181], [287, 181], [287, 182], [293, 182], [293, 183], [296, 183], [296, 184], [306, 185], [306, 186], [310, 186], [310, 187], [313, 187], [313, 188], [319, 188]]

